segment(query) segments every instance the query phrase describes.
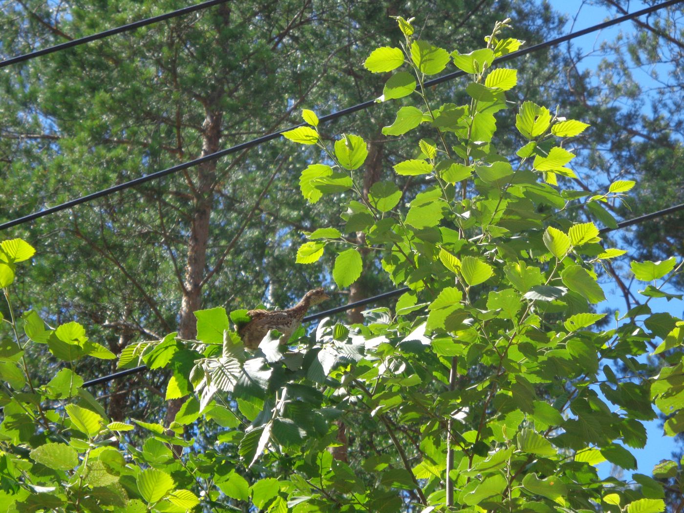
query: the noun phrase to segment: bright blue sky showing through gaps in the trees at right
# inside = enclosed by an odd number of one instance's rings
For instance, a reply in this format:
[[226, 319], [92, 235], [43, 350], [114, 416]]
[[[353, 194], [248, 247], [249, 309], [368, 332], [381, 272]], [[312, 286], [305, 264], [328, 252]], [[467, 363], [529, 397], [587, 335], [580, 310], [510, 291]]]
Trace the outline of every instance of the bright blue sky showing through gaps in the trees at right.
[[[566, 14], [568, 18], [568, 23], [565, 27], [565, 32], [577, 31], [591, 25], [596, 25], [596, 23], [601, 23], [607, 19], [614, 18], [616, 14], [610, 12], [603, 7], [596, 7], [595, 5], [590, 5], [586, 1], [581, 0], [550, 0], [552, 7], [562, 14]], [[624, 3], [622, 4], [624, 5]], [[638, 2], [629, 3], [629, 12], [634, 12], [635, 10], [640, 10], [646, 7], [646, 4]], [[582, 49], [583, 54], [589, 54], [588, 57], [582, 60], [580, 66], [581, 70], [585, 69], [595, 69], [601, 62], [601, 52], [598, 50], [601, 47], [601, 43], [605, 41], [612, 41], [620, 34], [620, 31], [627, 33], [633, 33], [637, 30], [637, 27], [633, 23], [622, 23], [609, 29], [605, 29], [601, 32], [589, 34], [588, 36], [583, 36], [577, 38], [573, 41], [573, 47]], [[648, 70], [643, 70], [641, 72], [636, 72], [635, 77], [642, 79], [643, 83], [648, 83], [650, 78], [648, 77]], [[579, 170], [581, 171], [581, 170]], [[638, 187], [638, 185], [637, 185]], [[624, 247], [624, 249], [629, 249]], [[637, 293], [638, 289], [642, 289], [644, 284], [634, 282], [631, 285], [633, 293], [639, 297]], [[624, 299], [622, 298], [622, 293], [618, 289], [617, 285], [607, 283], [604, 285], [604, 291], [607, 297], [607, 301], [599, 304], [599, 311], [605, 310], [605, 308], [618, 309], [622, 313], [626, 311], [624, 304]], [[672, 290], [670, 290], [672, 291]], [[674, 291], [672, 291], [674, 292]], [[675, 317], [682, 317], [684, 312], [684, 304], [679, 300], [672, 300], [667, 302], [664, 299], [661, 300], [651, 300], [650, 306], [653, 311], [668, 312]], [[637, 472], [650, 475], [653, 470], [653, 466], [657, 464], [663, 458], [670, 458], [670, 453], [674, 450], [675, 444], [672, 438], [663, 435], [663, 430], [659, 426], [658, 421], [653, 421], [647, 423], [646, 425], [648, 432], [648, 443], [644, 449], [630, 449], [631, 453], [637, 458], [637, 464], [639, 466]], [[606, 476], [611, 471], [610, 464], [605, 462], [599, 465], [599, 473]], [[625, 477], [629, 475], [631, 471], [625, 472]]]

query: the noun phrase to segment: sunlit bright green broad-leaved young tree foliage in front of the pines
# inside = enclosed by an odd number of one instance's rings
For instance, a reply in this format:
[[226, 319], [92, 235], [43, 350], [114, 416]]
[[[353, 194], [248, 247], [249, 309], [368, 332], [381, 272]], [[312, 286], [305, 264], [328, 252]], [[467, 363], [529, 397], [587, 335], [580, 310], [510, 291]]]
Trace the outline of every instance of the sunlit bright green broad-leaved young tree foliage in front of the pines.
[[[599, 194], [565, 188], [574, 155], [564, 141], [587, 125], [507, 101], [516, 70], [495, 60], [521, 44], [501, 35], [507, 21], [464, 54], [397, 22], [399, 47], [365, 61], [371, 73], [393, 72], [380, 101], [408, 98], [382, 130], [415, 135], [392, 178], [364, 194], [363, 137], [327, 144], [313, 111], [302, 113], [308, 126], [284, 135], [320, 150], [302, 171], [304, 197], [341, 202], [341, 221], [308, 233], [298, 262], [337, 252], [332, 278], [345, 288], [360, 275], [360, 252], [372, 252], [378, 272], [410, 291], [393, 310], [365, 312], [365, 324], [324, 319], [315, 337], [302, 328], [287, 345], [271, 332], [254, 352], [235, 332], [246, 311], [197, 311], [196, 340], [171, 333], [129, 345], [119, 359], [121, 368], [142, 361], [171, 371], [166, 397], [184, 398], [175, 420], [110, 422], [74, 368], [85, 356], [114, 355], [75, 322], [53, 329], [34, 311], [18, 317], [9, 287], [15, 264], [34, 250], [3, 241], [0, 504], [8, 511], [657, 513], [666, 508], [659, 480], [674, 477], [668, 486], [682, 490], [674, 461], [653, 477], [603, 479], [596, 470], [606, 460], [635, 469], [630, 448], [644, 447], [643, 422], [657, 411], [669, 416], [666, 434], [684, 430], [683, 324], [649, 307], [668, 297], [662, 287], [682, 263], [633, 262], [644, 304], [615, 319], [595, 313], [605, 299], [596, 268], [624, 251], [603, 247], [590, 218], [615, 226], [603, 205], [634, 183]], [[469, 100], [432, 105], [426, 77], [450, 62], [468, 75]], [[521, 147], [501, 155], [497, 117], [511, 107], [518, 133], [505, 137]], [[408, 197], [406, 184], [417, 180]], [[587, 222], [569, 221], [570, 209]], [[639, 359], [653, 341], [663, 362], [656, 376]], [[34, 343], [68, 363], [44, 385], [29, 379], [24, 355]], [[629, 373], [616, 376], [613, 360]], [[336, 421], [347, 426], [346, 458], [332, 454], [344, 443]], [[197, 451], [207, 423], [224, 431]], [[146, 433], [142, 447], [127, 437], [134, 429]]]

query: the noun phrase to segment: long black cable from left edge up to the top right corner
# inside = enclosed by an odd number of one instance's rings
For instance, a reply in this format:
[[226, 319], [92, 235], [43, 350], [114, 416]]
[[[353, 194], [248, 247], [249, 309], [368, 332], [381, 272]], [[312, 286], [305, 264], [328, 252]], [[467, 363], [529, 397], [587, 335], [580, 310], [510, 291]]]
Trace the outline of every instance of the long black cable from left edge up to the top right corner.
[[[636, 18], [638, 16], [643, 16], [644, 14], [650, 14], [651, 12], [655, 12], [659, 9], [663, 9], [666, 7], [670, 7], [670, 5], [675, 5], [676, 3], [681, 3], [681, 1], [684, 0], [668, 0], [663, 3], [658, 3], [657, 5], [652, 5], [649, 8], [642, 9], [640, 11], [633, 12], [631, 14], [627, 14], [625, 16], [620, 16], [618, 18], [615, 18], [614, 20], [611, 21], [606, 21], [605, 23], [599, 23], [599, 25], [594, 25], [593, 27], [589, 27], [587, 29], [579, 30], [576, 32], [572, 32], [570, 34], [566, 34], [566, 36], [561, 36], [560, 38], [555, 38], [546, 42], [542, 42], [539, 44], [534, 44], [533, 46], [523, 49], [523, 50], [518, 50], [513, 53], [509, 53], [508, 55], [503, 55], [503, 57], [499, 57], [496, 62], [501, 63], [501, 62], [508, 62], [510, 60], [516, 59], [517, 57], [522, 57], [523, 55], [527, 55], [529, 53], [535, 52], [535, 51], [540, 51], [542, 49], [548, 48], [548, 47], [553, 47], [557, 44], [560, 44], [562, 42], [566, 42], [569, 40], [572, 40], [574, 38], [579, 38], [580, 36], [585, 36], [586, 34], [591, 34], [592, 32], [599, 31], [601, 29], [605, 29], [607, 27], [611, 27], [612, 25], [617, 25], [618, 23], [622, 23], [624, 21], [629, 21], [632, 18]], [[443, 75], [442, 77], [437, 77], [436, 79], [428, 80], [425, 82], [425, 87], [430, 87], [430, 86], [436, 86], [439, 83], [443, 83], [445, 81], [453, 80], [458, 77], [462, 77], [466, 75], [463, 71], [455, 71], [453, 73], [447, 73], [447, 75]], [[360, 111], [363, 109], [367, 109], [369, 107], [372, 107], [373, 105], [376, 105], [375, 99], [365, 101], [363, 103], [358, 103], [357, 105], [353, 105], [352, 107], [347, 107], [346, 109], [342, 109], [336, 112], [332, 112], [331, 114], [328, 114], [326, 116], [322, 116], [320, 118], [321, 122], [328, 122], [337, 118], [341, 118], [343, 116], [346, 116], [347, 114], [352, 114], [356, 111]], [[16, 218], [12, 221], [5, 222], [3, 224], [0, 224], [0, 231], [5, 230], [7, 228], [11, 228], [12, 226], [17, 226], [18, 224], [24, 224], [29, 221], [36, 220], [38, 218], [42, 218], [45, 215], [50, 215], [55, 212], [59, 212], [62, 210], [70, 209], [72, 207], [75, 207], [77, 205], [81, 205], [81, 203], [86, 203], [92, 200], [95, 200], [97, 198], [102, 198], [103, 196], [109, 196], [110, 194], [114, 194], [115, 192], [120, 192], [125, 189], [129, 189], [130, 187], [135, 187], [135, 185], [140, 185], [142, 183], [146, 183], [151, 180], [156, 180], [161, 178], [162, 176], [166, 176], [168, 174], [172, 174], [187, 168], [192, 168], [194, 166], [198, 166], [202, 163], [213, 161], [215, 159], [220, 159], [220, 157], [225, 157], [226, 155], [231, 155], [231, 153], [237, 153], [241, 150], [245, 150], [247, 148], [252, 148], [254, 146], [258, 146], [259, 144], [263, 144], [264, 142], [274, 140], [276, 137], [279, 137], [280, 134], [284, 131], [287, 130], [292, 130], [298, 127], [303, 127], [306, 123], [300, 123], [298, 125], [295, 125], [294, 127], [290, 127], [287, 129], [282, 129], [280, 131], [268, 133], [266, 135], [262, 135], [261, 137], [257, 137], [257, 139], [252, 139], [250, 141], [242, 142], [240, 144], [237, 144], [235, 146], [231, 146], [231, 148], [226, 148], [224, 150], [217, 151], [215, 153], [210, 153], [209, 155], [205, 155], [204, 157], [199, 157], [197, 159], [187, 161], [181, 164], [178, 164], [176, 166], [172, 166], [170, 168], [166, 168], [161, 171], [157, 171], [151, 174], [146, 174], [144, 176], [140, 176], [137, 179], [133, 179], [131, 181], [127, 181], [124, 183], [120, 183], [118, 185], [114, 185], [112, 187], [108, 187], [107, 189], [102, 189], [101, 191], [94, 192], [92, 194], [88, 194], [87, 196], [81, 196], [80, 198], [75, 198], [73, 200], [69, 200], [67, 202], [62, 203], [61, 205], [55, 205], [55, 207], [50, 207], [48, 209], [40, 210], [34, 213], [31, 213], [29, 215], [25, 215], [21, 218]]]

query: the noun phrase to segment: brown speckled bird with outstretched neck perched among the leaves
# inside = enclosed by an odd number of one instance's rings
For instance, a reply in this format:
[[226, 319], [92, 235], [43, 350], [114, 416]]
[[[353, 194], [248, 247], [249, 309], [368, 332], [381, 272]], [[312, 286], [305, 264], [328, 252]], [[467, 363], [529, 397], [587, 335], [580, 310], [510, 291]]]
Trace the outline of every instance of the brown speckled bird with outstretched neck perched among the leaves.
[[287, 310], [250, 310], [247, 315], [250, 321], [239, 326], [237, 334], [241, 337], [248, 349], [257, 349], [263, 337], [269, 330], [278, 330], [282, 333], [280, 343], [287, 343], [293, 332], [302, 324], [302, 319], [308, 308], [320, 304], [329, 299], [330, 296], [321, 287], [313, 289], [304, 294], [300, 302]]

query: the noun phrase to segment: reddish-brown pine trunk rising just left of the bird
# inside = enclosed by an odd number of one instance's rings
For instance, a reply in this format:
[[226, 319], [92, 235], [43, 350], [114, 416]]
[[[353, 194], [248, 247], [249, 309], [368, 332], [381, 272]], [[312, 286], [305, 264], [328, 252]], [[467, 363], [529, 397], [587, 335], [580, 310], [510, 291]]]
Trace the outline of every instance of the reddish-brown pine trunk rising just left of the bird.
[[[215, 153], [221, 139], [222, 113], [205, 105], [205, 122], [202, 124], [202, 157]], [[179, 313], [178, 336], [181, 339], [194, 339], [197, 336], [197, 323], [194, 312], [202, 306], [202, 278], [207, 263], [207, 244], [209, 241], [209, 220], [213, 205], [212, 185], [216, 179], [216, 161], [209, 161], [198, 168], [197, 178], [192, 182], [193, 211], [189, 239], [187, 241], [187, 261], [185, 263], [185, 283]], [[180, 410], [185, 399], [171, 399], [166, 408], [166, 423], [170, 424]], [[180, 447], [174, 447], [178, 453]]]

